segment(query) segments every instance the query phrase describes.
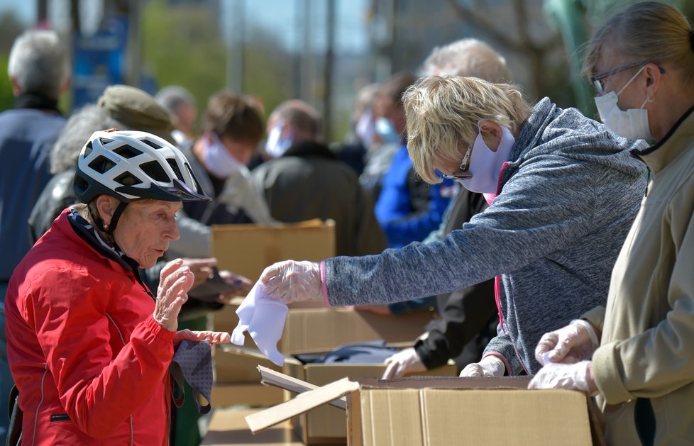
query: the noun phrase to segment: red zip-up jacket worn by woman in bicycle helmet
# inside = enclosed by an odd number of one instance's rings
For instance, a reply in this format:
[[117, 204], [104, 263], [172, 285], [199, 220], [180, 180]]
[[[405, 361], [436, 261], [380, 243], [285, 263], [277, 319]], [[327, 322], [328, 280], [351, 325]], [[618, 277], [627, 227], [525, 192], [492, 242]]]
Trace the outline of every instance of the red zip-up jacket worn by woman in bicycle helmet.
[[62, 213], [13, 272], [7, 356], [23, 445], [167, 445], [175, 333]]

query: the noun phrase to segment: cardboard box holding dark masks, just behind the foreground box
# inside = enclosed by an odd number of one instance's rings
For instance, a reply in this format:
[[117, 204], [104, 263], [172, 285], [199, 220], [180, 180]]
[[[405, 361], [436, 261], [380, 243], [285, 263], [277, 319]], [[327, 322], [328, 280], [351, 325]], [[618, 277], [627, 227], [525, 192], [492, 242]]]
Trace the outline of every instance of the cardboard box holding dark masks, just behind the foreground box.
[[[412, 342], [412, 341], [410, 341]], [[324, 386], [338, 379], [380, 378], [385, 372], [384, 364], [304, 364], [296, 357], [287, 357], [282, 367], [284, 374], [300, 381]], [[458, 369], [453, 361], [443, 367], [418, 373], [440, 377], [456, 377]], [[298, 392], [295, 392], [298, 393]], [[285, 392], [285, 401], [294, 395]], [[297, 438], [306, 445], [344, 444], [347, 441], [347, 423], [344, 407], [321, 406], [292, 417], [292, 428]]]

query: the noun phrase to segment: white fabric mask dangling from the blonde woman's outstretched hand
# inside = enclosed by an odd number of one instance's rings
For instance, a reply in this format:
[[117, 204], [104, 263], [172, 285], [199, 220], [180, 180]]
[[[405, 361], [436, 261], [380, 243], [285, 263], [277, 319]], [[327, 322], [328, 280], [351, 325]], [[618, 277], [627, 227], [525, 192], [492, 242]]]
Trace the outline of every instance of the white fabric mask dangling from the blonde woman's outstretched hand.
[[265, 294], [265, 286], [256, 282], [236, 310], [238, 325], [231, 333], [231, 342], [243, 345], [243, 332], [248, 330], [260, 352], [281, 366], [285, 357], [277, 350], [277, 341], [282, 338], [287, 311], [286, 303], [270, 299]]

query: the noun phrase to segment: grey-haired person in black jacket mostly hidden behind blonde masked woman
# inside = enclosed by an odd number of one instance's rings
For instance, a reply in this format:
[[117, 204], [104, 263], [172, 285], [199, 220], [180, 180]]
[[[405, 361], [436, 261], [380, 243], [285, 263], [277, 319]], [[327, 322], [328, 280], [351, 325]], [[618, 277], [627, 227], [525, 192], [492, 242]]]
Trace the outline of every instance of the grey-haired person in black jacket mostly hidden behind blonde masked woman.
[[[504, 57], [483, 41], [473, 38], [434, 48], [422, 65], [421, 74], [423, 77], [473, 76], [490, 82], [513, 80]], [[460, 229], [487, 207], [483, 194], [459, 187], [444, 213], [441, 227], [429, 234], [424, 242], [443, 240], [448, 233]], [[441, 367], [451, 358], [456, 359], [456, 364], [462, 368], [482, 357], [489, 340], [496, 335], [498, 323], [492, 299], [493, 284], [490, 279], [436, 296], [439, 318], [431, 320], [414, 347], [400, 350], [386, 359], [387, 368], [382, 379]]]

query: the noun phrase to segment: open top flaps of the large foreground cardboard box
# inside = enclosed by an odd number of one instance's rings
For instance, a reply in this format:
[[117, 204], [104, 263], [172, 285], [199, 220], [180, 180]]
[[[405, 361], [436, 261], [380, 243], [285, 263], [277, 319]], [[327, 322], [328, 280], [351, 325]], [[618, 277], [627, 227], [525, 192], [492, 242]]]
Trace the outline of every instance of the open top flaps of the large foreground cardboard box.
[[[325, 386], [317, 387], [300, 379], [292, 378], [280, 372], [258, 366], [260, 382], [265, 385], [277, 386], [295, 393], [295, 398], [278, 404], [264, 411], [246, 417], [246, 423], [251, 432], [261, 430], [288, 420], [293, 416], [309, 411], [322, 404], [331, 403], [333, 406], [346, 408], [345, 396], [363, 387], [378, 387], [384, 389], [527, 389], [529, 377], [489, 378], [458, 378], [458, 377], [411, 377], [380, 381], [375, 378], [349, 379], [343, 378]], [[339, 401], [339, 403], [338, 403]]]

